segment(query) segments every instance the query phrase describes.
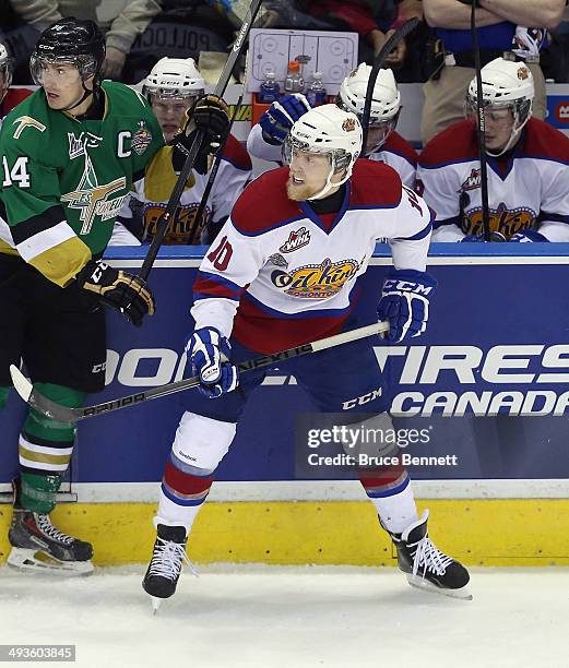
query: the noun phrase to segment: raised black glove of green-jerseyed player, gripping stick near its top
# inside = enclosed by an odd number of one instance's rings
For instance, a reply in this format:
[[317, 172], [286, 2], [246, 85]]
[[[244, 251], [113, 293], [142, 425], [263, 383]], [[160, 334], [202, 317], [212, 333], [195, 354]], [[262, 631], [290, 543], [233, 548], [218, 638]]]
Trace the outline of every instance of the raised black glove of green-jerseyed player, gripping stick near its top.
[[229, 128], [229, 107], [216, 95], [200, 97], [186, 111], [182, 129], [174, 135], [171, 164], [175, 171], [181, 171], [198, 130], [205, 136], [195, 156], [193, 168], [208, 174], [208, 158], [217, 152]]

